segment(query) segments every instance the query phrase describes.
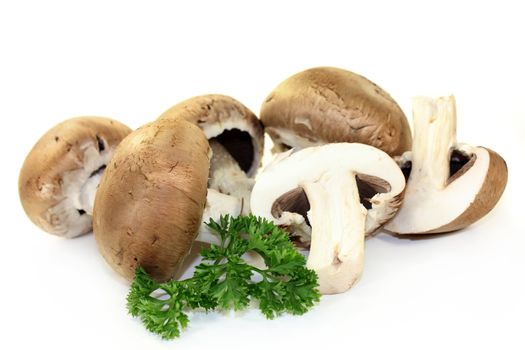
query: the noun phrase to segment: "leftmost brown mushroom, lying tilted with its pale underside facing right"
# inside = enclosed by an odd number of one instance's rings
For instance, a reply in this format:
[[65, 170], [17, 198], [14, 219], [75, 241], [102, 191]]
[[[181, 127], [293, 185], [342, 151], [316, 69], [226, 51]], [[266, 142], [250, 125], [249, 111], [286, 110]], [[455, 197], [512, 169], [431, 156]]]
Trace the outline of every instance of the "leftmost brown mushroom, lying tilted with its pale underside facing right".
[[72, 118], [48, 130], [27, 155], [18, 180], [31, 221], [67, 238], [91, 231], [98, 182], [115, 147], [130, 132], [103, 117]]

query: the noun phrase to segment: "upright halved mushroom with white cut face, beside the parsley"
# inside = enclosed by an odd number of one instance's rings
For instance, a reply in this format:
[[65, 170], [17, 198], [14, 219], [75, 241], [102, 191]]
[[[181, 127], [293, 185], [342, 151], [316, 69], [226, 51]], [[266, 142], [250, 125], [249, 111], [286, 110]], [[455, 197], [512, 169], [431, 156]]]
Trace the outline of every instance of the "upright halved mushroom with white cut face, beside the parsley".
[[282, 153], [257, 178], [255, 215], [309, 233], [307, 266], [323, 294], [342, 293], [360, 277], [364, 239], [397, 211], [405, 179], [385, 152], [334, 143]]

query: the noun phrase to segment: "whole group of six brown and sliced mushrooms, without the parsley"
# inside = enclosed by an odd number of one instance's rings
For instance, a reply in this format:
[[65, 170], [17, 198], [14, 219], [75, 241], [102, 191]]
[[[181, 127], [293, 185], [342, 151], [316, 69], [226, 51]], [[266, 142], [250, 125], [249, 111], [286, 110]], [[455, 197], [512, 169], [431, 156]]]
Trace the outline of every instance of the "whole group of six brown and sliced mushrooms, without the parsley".
[[[338, 68], [282, 82], [258, 119], [235, 99], [183, 101], [135, 131], [79, 117], [50, 129], [27, 156], [19, 192], [44, 231], [93, 230], [126, 279], [142, 266], [172, 279], [194, 241], [216, 243], [203, 222], [253, 213], [298, 248], [324, 294], [348, 290], [364, 241], [462, 229], [487, 214], [507, 182], [494, 151], [456, 142], [453, 97], [413, 100], [414, 135], [376, 84]], [[274, 158], [260, 170], [264, 133]], [[257, 174], [257, 177], [255, 175]]]

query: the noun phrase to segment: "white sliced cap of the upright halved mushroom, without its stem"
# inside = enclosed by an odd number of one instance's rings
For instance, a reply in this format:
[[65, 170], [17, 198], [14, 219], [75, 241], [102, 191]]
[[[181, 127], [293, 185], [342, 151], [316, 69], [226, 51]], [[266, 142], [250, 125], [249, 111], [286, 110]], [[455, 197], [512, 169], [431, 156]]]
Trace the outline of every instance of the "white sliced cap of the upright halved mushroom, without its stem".
[[287, 225], [276, 214], [288, 211], [286, 208], [302, 207], [297, 212], [303, 211], [304, 215], [309, 204], [299, 201], [308, 198], [300, 198], [303, 194], [297, 194], [297, 188], [302, 183], [318, 181], [327, 171], [346, 171], [349, 176], [356, 176], [361, 203], [368, 209], [366, 234], [390, 220], [403, 200], [403, 173], [386, 153], [360, 143], [333, 143], [279, 154], [257, 178], [251, 197], [252, 212]]

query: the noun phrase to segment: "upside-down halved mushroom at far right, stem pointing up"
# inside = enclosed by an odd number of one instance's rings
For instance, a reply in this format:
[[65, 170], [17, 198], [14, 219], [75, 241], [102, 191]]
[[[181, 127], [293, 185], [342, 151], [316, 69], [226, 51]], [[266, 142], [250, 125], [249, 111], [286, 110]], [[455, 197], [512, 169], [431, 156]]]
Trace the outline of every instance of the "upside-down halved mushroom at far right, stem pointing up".
[[453, 96], [413, 101], [414, 146], [400, 157], [408, 177], [405, 199], [385, 229], [398, 234], [462, 229], [485, 216], [507, 183], [496, 152], [456, 142]]

